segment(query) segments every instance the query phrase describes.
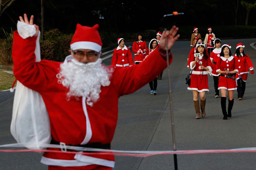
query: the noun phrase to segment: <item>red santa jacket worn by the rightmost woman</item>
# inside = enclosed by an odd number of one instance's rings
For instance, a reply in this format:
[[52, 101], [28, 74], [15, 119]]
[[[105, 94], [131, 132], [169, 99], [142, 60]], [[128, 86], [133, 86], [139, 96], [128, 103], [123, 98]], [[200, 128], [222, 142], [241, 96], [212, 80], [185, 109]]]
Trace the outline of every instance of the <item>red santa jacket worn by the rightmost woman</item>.
[[[245, 55], [243, 56], [243, 54], [241, 53], [241, 56], [236, 56], [233, 55], [233, 57], [237, 57], [238, 59], [238, 73], [236, 74], [236, 78], [239, 78], [239, 77], [242, 77], [243, 80], [247, 80], [247, 74], [249, 73], [249, 69], [248, 67], [250, 68], [250, 71], [251, 73], [253, 74], [254, 73], [254, 68], [253, 68], [253, 63], [252, 61], [250, 60], [250, 57]], [[244, 74], [244, 76], [243, 76]]]

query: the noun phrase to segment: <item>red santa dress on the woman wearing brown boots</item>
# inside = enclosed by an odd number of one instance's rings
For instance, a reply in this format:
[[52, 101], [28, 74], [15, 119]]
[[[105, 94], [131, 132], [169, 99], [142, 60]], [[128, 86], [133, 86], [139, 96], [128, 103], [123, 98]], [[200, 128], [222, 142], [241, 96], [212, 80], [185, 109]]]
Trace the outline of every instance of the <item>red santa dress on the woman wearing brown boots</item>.
[[[209, 57], [202, 57], [199, 59], [198, 62], [195, 63], [194, 67], [192, 66], [192, 59], [190, 60], [190, 69], [192, 70], [191, 73], [191, 83], [190, 86], [188, 87], [188, 90], [194, 90], [198, 92], [203, 92], [203, 91], [209, 91], [208, 87], [208, 77], [207, 74], [212, 72], [212, 63]], [[206, 70], [201, 70], [200, 66], [203, 65], [204, 67], [209, 68], [209, 71]]]

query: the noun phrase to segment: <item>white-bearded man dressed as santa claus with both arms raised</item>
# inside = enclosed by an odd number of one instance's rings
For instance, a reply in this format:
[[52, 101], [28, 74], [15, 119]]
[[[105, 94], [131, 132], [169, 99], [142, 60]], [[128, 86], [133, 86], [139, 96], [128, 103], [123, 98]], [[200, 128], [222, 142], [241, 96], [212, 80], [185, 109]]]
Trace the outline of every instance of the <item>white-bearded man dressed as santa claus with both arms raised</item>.
[[[49, 113], [52, 144], [60, 142], [81, 147], [110, 149], [114, 136], [118, 98], [133, 93], [162, 72], [166, 64], [166, 44], [170, 49], [179, 35], [178, 28], [163, 32], [160, 46], [144, 62], [132, 67], [105, 67], [100, 58], [102, 41], [97, 29], [77, 24], [70, 43], [71, 57], [65, 62], [35, 62], [39, 32], [33, 16], [26, 14], [20, 22], [34, 26], [35, 32], [23, 39], [14, 32], [12, 57], [16, 79], [41, 94]], [[19, 28], [18, 28], [19, 29]], [[25, 30], [28, 31], [28, 30]], [[143, 77], [143, 79], [141, 79]], [[60, 150], [58, 148], [48, 148]], [[90, 154], [44, 153], [41, 163], [49, 170], [111, 170], [114, 156]]]

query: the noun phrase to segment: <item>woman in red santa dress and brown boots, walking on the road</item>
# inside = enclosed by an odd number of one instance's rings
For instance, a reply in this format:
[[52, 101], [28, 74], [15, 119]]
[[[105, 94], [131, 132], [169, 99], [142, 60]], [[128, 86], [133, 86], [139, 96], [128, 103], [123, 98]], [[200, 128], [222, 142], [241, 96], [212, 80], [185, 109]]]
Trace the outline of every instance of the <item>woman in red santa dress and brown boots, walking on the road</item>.
[[200, 96], [201, 116], [205, 117], [205, 104], [206, 104], [206, 92], [209, 91], [207, 74], [212, 72], [212, 63], [209, 57], [206, 55], [204, 42], [198, 42], [196, 44], [196, 53], [194, 60], [190, 62], [191, 84], [188, 90], [193, 92], [193, 101], [195, 107], [195, 119], [200, 119], [200, 107], [198, 94]]

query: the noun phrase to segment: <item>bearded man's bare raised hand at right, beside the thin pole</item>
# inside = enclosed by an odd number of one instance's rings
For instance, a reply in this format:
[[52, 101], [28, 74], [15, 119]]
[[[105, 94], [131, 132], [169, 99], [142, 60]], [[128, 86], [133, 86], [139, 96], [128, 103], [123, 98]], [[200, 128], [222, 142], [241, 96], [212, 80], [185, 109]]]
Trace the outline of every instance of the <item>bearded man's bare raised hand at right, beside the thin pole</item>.
[[160, 38], [160, 45], [159, 45], [160, 48], [162, 48], [163, 50], [166, 50], [165, 38], [167, 37], [168, 50], [171, 49], [172, 46], [174, 45], [174, 42], [180, 37], [180, 34], [176, 35], [178, 30], [179, 28], [177, 28], [176, 26], [173, 26], [170, 31], [163, 31], [163, 34]]

